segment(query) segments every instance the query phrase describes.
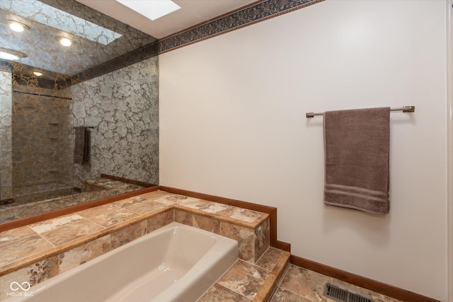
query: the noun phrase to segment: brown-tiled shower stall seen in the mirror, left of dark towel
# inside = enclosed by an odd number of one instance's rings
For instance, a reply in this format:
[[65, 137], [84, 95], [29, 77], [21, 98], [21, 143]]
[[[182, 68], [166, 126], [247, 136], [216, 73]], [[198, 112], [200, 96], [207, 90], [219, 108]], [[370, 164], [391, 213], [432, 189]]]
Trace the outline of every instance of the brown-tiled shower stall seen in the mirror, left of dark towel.
[[15, 204], [74, 194], [71, 98], [64, 91], [12, 93], [12, 197]]

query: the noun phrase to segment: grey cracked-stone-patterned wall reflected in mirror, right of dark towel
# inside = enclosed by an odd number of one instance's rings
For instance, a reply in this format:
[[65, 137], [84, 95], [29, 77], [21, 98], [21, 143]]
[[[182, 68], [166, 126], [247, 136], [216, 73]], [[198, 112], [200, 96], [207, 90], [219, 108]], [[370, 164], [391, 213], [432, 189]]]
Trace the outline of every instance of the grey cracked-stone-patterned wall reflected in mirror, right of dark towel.
[[158, 57], [67, 89], [74, 127], [93, 127], [90, 163], [74, 164], [74, 186], [101, 173], [158, 184]]

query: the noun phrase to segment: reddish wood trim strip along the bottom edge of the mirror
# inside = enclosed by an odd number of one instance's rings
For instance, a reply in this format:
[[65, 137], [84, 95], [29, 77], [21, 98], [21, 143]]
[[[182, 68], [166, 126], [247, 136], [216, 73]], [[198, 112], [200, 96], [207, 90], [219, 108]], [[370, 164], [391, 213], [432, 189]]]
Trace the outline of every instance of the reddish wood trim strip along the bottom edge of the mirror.
[[12, 221], [5, 221], [5, 222], [0, 223], [0, 231], [1, 232], [8, 231], [13, 228], [27, 226], [28, 224], [31, 224], [31, 223], [37, 223], [37, 222], [45, 221], [47, 219], [52, 219], [52, 218], [55, 218], [58, 216], [72, 214], [72, 213], [75, 213], [76, 211], [81, 211], [84, 209], [98, 207], [103, 204], [109, 204], [110, 202], [117, 202], [118, 200], [121, 200], [121, 199], [126, 199], [126, 198], [130, 198], [130, 197], [134, 197], [136, 195], [145, 194], [145, 193], [153, 192], [153, 191], [157, 191], [157, 190], [159, 190], [159, 186], [147, 187], [142, 190], [127, 192], [127, 193], [115, 195], [112, 197], [105, 197], [103, 199], [94, 200], [92, 202], [85, 202], [84, 204], [76, 204], [74, 206], [66, 207], [63, 209], [57, 209], [55, 211], [48, 211], [46, 213], [28, 216], [28, 217], [24, 217], [24, 218], [12, 220]]

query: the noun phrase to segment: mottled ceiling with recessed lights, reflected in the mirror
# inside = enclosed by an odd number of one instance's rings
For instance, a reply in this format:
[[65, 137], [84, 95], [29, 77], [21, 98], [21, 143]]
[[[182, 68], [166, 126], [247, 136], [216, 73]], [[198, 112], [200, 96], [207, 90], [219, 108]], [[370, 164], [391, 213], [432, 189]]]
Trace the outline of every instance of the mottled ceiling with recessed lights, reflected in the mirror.
[[[27, 57], [20, 62], [45, 70], [45, 75], [52, 71], [71, 76], [156, 40], [112, 18], [103, 18], [105, 16], [78, 2], [0, 1], [0, 47], [26, 54]], [[20, 21], [28, 29], [15, 33], [8, 28], [8, 20]], [[69, 21], [65, 23], [65, 20]], [[110, 41], [105, 43], [93, 39], [87, 33], [95, 33], [96, 38], [105, 37], [104, 40]], [[119, 37], [113, 39], [109, 33]], [[72, 45], [62, 47], [60, 37], [69, 37]]]

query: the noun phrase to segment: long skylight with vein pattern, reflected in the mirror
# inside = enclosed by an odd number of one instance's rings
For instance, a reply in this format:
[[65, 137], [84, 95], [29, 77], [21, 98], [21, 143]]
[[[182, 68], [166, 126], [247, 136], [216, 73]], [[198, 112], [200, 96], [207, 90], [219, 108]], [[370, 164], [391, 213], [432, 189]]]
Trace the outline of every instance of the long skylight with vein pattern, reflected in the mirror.
[[122, 36], [112, 30], [36, 0], [0, 0], [0, 8], [102, 45], [108, 45], [108, 43]]

